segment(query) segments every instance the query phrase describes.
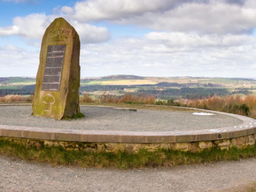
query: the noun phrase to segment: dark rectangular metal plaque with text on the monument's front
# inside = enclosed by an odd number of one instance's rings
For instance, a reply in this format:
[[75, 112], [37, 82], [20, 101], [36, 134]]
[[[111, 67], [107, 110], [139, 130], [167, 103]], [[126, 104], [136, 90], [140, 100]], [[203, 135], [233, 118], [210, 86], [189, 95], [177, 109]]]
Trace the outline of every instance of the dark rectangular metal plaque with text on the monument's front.
[[49, 45], [47, 49], [42, 90], [59, 91], [66, 45]]

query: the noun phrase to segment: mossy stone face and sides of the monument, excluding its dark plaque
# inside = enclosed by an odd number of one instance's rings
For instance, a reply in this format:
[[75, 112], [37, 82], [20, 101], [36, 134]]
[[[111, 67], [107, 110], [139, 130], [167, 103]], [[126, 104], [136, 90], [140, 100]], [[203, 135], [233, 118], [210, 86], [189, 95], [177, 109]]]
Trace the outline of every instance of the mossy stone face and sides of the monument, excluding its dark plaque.
[[[60, 30], [69, 31], [67, 34]], [[66, 45], [63, 69], [59, 91], [42, 90], [46, 54], [49, 45]], [[64, 18], [57, 18], [46, 29], [42, 39], [40, 62], [37, 72], [35, 92], [33, 97], [33, 115], [61, 120], [64, 117], [72, 117], [80, 112], [79, 86], [80, 86], [80, 40], [79, 35]], [[43, 101], [45, 95], [50, 94], [54, 98], [50, 110], [45, 110]]]

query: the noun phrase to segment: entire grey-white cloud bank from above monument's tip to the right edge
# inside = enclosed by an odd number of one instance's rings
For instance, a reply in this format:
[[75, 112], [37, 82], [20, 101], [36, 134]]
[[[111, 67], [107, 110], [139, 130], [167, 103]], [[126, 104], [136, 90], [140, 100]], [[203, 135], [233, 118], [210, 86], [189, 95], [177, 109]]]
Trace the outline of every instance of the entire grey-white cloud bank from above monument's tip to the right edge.
[[253, 0], [87, 0], [70, 16], [80, 22], [109, 20], [154, 30], [248, 33], [256, 27]]

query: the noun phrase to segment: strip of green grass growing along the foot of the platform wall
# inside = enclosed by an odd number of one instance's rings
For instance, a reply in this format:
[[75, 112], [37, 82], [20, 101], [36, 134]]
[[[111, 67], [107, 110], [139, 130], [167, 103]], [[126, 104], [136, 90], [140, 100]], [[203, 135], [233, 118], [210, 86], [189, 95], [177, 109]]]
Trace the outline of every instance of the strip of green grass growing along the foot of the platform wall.
[[173, 150], [157, 150], [147, 152], [139, 150], [136, 154], [125, 152], [89, 153], [82, 150], [65, 150], [61, 146], [44, 146], [27, 148], [26, 144], [0, 139], [0, 154], [17, 157], [31, 162], [49, 163], [56, 165], [78, 165], [81, 167], [114, 167], [118, 169], [132, 169], [145, 167], [170, 167], [175, 165], [191, 165], [204, 162], [239, 160], [256, 156], [256, 147], [244, 149], [231, 148], [219, 150], [212, 148], [200, 153], [190, 153]]

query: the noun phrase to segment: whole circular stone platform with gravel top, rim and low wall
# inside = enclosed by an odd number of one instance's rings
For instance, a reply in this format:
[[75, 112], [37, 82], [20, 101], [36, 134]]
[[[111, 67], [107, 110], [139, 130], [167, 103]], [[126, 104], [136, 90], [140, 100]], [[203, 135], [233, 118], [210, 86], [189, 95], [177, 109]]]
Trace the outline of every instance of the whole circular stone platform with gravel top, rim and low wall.
[[78, 150], [83, 146], [95, 153], [136, 153], [139, 148], [229, 150], [252, 146], [256, 140], [256, 120], [237, 114], [154, 105], [138, 105], [136, 112], [107, 106], [80, 108], [85, 118], [58, 121], [31, 116], [31, 104], [0, 104], [0, 139], [35, 147], [57, 144]]

